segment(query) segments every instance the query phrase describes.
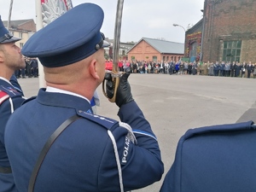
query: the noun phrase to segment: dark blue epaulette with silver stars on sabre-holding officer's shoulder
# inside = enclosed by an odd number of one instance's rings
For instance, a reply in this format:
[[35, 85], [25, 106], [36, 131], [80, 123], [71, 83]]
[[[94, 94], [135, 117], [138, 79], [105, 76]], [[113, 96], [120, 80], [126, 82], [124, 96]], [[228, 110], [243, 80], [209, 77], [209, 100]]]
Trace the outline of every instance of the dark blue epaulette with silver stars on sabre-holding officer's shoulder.
[[85, 119], [90, 119], [91, 121], [94, 121], [96, 124], [104, 126], [108, 130], [110, 130], [113, 127], [113, 125], [119, 124], [119, 121], [117, 120], [109, 119], [92, 113], [86, 113], [81, 110], [78, 110], [77, 114], [81, 117], [84, 117]]

